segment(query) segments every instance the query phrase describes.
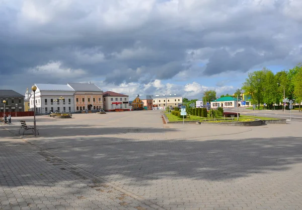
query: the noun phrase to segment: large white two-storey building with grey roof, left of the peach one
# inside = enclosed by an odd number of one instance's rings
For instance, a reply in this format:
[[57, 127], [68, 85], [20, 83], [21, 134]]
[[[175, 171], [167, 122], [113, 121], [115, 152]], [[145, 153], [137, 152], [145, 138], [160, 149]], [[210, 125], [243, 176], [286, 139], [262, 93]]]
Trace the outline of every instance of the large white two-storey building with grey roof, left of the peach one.
[[[46, 114], [51, 112], [68, 113], [74, 112], [74, 93], [75, 90], [68, 85], [54, 85], [54, 84], [35, 84], [37, 90], [35, 92], [36, 113]], [[60, 101], [59, 98], [64, 100]], [[57, 99], [57, 102], [54, 100]], [[34, 92], [30, 96], [30, 109], [34, 108]]]

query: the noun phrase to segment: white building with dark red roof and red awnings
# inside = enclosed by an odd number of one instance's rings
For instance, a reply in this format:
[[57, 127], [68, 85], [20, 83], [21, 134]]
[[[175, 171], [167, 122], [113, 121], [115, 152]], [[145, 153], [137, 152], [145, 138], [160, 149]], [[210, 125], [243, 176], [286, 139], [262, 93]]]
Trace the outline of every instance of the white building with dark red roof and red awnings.
[[103, 105], [105, 111], [122, 109], [129, 111], [129, 96], [112, 91], [104, 92]]

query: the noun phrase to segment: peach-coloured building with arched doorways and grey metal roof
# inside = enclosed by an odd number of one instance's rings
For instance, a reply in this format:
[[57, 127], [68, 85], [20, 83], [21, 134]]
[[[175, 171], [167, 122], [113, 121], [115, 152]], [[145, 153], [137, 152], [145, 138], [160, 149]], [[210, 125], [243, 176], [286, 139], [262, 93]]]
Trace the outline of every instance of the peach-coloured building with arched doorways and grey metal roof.
[[74, 93], [74, 110], [103, 109], [103, 91], [92, 83], [68, 83]]

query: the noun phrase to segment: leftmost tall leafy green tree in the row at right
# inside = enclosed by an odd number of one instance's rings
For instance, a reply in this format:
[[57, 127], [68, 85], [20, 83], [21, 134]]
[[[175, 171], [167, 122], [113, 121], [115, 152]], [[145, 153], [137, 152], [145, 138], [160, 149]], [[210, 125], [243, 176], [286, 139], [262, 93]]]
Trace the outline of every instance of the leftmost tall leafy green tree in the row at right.
[[248, 78], [243, 83], [242, 87], [242, 90], [245, 94], [252, 96], [251, 102], [253, 104], [258, 104], [258, 109], [260, 109], [260, 104], [263, 102], [263, 86], [265, 82], [266, 71], [267, 69], [263, 68], [261, 71], [249, 73]]

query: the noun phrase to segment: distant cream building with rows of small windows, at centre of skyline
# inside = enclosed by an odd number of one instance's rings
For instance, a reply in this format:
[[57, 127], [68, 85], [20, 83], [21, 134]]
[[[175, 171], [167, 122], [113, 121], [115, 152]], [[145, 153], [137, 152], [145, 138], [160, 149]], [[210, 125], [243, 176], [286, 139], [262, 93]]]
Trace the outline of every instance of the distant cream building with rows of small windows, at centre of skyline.
[[165, 107], [177, 107], [178, 104], [182, 104], [183, 97], [181, 95], [155, 95], [152, 98], [153, 100], [153, 107], [157, 107], [159, 109], [165, 109]]

